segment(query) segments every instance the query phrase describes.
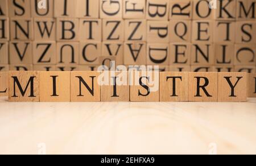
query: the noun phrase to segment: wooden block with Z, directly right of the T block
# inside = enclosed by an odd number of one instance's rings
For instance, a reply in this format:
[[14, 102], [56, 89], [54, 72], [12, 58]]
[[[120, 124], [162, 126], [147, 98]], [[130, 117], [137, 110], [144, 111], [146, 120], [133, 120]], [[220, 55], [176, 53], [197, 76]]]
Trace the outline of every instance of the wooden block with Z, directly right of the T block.
[[124, 22], [122, 19], [102, 20], [102, 40], [112, 42], [123, 42], [125, 39]]

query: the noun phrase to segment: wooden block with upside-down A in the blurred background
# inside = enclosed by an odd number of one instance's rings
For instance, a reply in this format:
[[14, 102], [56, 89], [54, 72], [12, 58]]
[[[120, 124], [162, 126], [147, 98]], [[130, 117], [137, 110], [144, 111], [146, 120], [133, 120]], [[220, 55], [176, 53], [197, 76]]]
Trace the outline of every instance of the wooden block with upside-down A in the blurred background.
[[146, 42], [125, 42], [123, 62], [125, 65], [143, 65], [146, 62]]

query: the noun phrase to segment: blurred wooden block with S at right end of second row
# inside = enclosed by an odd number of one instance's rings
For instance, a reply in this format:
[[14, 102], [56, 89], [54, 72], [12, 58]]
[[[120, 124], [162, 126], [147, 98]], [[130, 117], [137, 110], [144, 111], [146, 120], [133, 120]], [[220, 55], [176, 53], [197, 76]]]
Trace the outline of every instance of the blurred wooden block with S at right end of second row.
[[236, 43], [256, 43], [256, 22], [236, 22]]

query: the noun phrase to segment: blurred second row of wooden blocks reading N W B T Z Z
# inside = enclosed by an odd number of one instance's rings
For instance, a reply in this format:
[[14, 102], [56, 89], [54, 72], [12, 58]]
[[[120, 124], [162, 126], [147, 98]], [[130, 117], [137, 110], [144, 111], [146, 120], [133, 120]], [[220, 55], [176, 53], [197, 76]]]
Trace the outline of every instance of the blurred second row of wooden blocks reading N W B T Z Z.
[[0, 18], [1, 41], [256, 44], [255, 31], [255, 20]]

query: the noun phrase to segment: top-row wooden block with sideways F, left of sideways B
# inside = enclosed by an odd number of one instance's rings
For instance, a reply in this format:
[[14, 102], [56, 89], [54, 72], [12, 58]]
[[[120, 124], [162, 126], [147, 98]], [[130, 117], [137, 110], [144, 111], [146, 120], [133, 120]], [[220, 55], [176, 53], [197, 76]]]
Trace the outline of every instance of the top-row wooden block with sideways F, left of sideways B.
[[123, 1], [124, 19], [142, 19], [146, 17], [146, 0]]

